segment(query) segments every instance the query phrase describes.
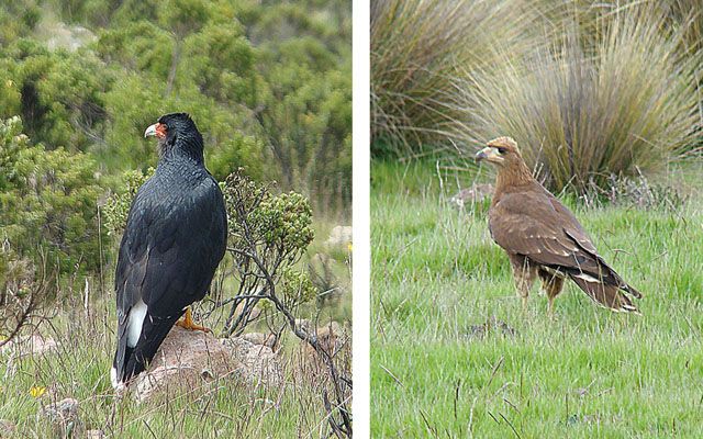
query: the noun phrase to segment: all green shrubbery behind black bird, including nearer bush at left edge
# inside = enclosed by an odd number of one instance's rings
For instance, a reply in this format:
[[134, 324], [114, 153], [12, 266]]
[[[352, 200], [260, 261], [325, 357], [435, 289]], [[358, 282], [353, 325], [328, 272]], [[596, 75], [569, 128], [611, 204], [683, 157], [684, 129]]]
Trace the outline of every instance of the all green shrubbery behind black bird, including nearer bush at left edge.
[[0, 119], [19, 115], [23, 128], [8, 130], [36, 142], [11, 134], [3, 146], [0, 230], [19, 257], [96, 270], [99, 219], [120, 236], [158, 158], [144, 130], [174, 111], [196, 120], [217, 180], [242, 167], [316, 215], [350, 213], [348, 2], [37, 4], [0, 7]]

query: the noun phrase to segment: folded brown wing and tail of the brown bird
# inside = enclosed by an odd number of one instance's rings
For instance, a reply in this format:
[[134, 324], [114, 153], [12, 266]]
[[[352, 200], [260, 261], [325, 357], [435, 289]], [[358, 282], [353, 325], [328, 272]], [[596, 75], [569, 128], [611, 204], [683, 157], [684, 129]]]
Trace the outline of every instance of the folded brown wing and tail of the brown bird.
[[489, 227], [507, 252], [568, 274], [604, 306], [637, 311], [618, 290], [641, 294], [603, 261], [573, 214], [540, 185], [501, 194], [489, 212]]

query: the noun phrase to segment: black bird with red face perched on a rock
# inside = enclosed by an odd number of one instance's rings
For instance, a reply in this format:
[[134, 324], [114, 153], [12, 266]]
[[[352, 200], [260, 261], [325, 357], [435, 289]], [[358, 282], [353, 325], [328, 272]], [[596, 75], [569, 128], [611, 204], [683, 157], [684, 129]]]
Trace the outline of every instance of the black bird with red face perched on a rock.
[[166, 114], [146, 128], [156, 136], [156, 172], [130, 207], [115, 273], [118, 349], [112, 385], [142, 372], [174, 324], [192, 323], [188, 306], [204, 297], [225, 252], [222, 191], [203, 161], [203, 142], [186, 113]]

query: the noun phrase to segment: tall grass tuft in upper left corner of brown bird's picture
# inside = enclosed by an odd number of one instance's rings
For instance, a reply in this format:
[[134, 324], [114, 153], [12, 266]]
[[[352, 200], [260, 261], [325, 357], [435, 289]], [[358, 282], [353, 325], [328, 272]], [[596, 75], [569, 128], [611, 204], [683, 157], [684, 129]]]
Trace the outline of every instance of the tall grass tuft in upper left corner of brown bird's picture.
[[446, 143], [462, 116], [456, 78], [534, 44], [523, 0], [371, 2], [371, 140], [395, 155]]

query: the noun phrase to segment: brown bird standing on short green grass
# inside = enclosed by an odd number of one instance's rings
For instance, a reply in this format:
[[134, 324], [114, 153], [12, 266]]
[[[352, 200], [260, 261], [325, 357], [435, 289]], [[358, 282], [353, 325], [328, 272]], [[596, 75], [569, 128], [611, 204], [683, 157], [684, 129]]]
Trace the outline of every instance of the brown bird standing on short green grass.
[[576, 216], [535, 180], [515, 140], [495, 138], [476, 160], [498, 167], [489, 229], [507, 252], [523, 308], [539, 277], [553, 313], [554, 299], [569, 277], [595, 303], [616, 312], [638, 313], [624, 293], [637, 299], [641, 294], [605, 263]]

